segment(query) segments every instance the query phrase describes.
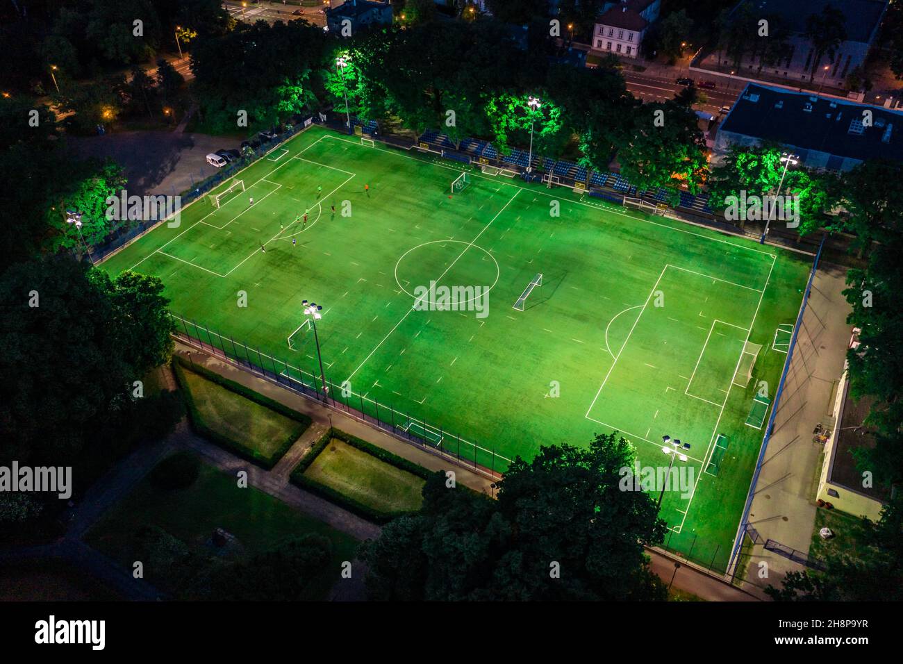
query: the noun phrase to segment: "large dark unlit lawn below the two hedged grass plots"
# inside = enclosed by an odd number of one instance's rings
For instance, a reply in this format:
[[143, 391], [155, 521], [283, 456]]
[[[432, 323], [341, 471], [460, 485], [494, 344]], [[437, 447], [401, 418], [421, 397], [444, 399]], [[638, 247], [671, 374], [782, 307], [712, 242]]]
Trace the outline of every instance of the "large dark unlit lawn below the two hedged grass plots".
[[330, 563], [313, 581], [309, 599], [321, 599], [339, 579], [342, 561], [351, 560], [357, 540], [293, 510], [280, 500], [253, 487], [239, 489], [236, 479], [207, 464], [186, 489], [165, 491], [145, 479], [116, 509], [111, 510], [88, 533], [92, 547], [131, 569], [135, 560], [145, 561], [144, 578], [170, 592], [173, 578], [169, 566], [154, 566], [151, 552], [135, 550], [134, 535], [145, 525], [163, 528], [185, 549], [200, 556], [216, 556], [210, 546], [215, 528], [235, 535], [247, 554], [262, 553], [288, 538], [309, 533], [332, 543]]

